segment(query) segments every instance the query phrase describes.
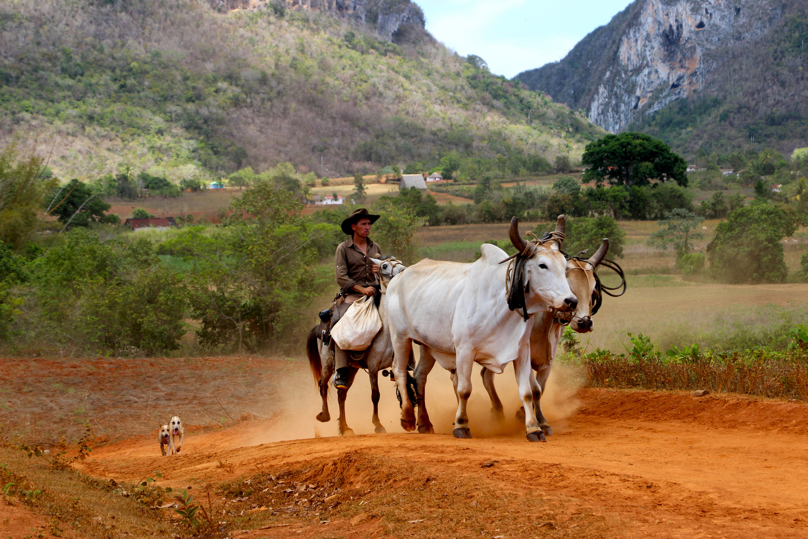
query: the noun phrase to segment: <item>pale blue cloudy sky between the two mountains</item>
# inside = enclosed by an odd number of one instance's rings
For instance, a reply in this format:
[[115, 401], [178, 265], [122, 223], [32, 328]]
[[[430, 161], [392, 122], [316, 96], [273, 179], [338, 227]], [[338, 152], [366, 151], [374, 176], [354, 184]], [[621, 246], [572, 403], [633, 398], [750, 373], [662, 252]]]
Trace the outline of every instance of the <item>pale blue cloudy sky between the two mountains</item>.
[[462, 56], [476, 54], [511, 78], [561, 60], [630, 0], [415, 0], [427, 30]]

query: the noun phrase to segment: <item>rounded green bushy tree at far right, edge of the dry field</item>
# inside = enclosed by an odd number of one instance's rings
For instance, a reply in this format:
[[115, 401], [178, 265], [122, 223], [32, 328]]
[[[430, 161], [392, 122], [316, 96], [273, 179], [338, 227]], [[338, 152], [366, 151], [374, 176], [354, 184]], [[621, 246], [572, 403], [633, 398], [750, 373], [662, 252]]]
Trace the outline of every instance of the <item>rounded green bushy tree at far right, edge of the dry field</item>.
[[773, 204], [736, 209], [707, 246], [713, 277], [730, 284], [783, 282], [789, 270], [781, 240], [793, 233], [793, 221]]

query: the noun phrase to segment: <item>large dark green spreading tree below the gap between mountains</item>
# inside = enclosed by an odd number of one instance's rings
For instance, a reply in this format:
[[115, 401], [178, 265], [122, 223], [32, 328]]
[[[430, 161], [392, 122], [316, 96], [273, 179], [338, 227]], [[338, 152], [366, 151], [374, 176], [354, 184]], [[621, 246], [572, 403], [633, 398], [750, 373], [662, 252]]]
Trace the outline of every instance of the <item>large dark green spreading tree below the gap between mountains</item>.
[[645, 185], [649, 180], [688, 185], [688, 163], [663, 141], [643, 133], [606, 135], [587, 145], [582, 158], [583, 182]]

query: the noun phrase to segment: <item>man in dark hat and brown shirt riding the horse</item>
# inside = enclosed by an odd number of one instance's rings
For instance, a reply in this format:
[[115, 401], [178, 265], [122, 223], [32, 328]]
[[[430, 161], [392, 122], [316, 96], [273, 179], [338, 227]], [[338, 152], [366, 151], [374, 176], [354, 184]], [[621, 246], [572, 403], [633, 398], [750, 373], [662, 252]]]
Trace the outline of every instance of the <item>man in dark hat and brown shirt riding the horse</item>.
[[[351, 303], [362, 297], [372, 297], [378, 293], [379, 266], [372, 259], [381, 259], [381, 247], [368, 238], [370, 227], [380, 216], [368, 213], [359, 208], [343, 221], [341, 228], [350, 236], [337, 246], [334, 256], [337, 284], [342, 292], [335, 301], [331, 314], [331, 326], [351, 306]], [[350, 385], [350, 352], [334, 347], [334, 363], [336, 376], [334, 386], [338, 390], [347, 389]]]

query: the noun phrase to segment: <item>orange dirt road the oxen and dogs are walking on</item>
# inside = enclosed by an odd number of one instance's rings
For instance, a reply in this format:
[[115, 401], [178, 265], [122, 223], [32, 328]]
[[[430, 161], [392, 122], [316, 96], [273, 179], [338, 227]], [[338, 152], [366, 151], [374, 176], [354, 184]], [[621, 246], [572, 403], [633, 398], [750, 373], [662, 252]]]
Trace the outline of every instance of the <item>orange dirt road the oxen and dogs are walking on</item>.
[[149, 436], [98, 448], [83, 467], [122, 484], [161, 470], [197, 494], [225, 482], [213, 503], [230, 537], [808, 537], [808, 406], [578, 398], [546, 444], [389, 434], [247, 445], [280, 427], [255, 421], [187, 436], [182, 457], [154, 456]]

